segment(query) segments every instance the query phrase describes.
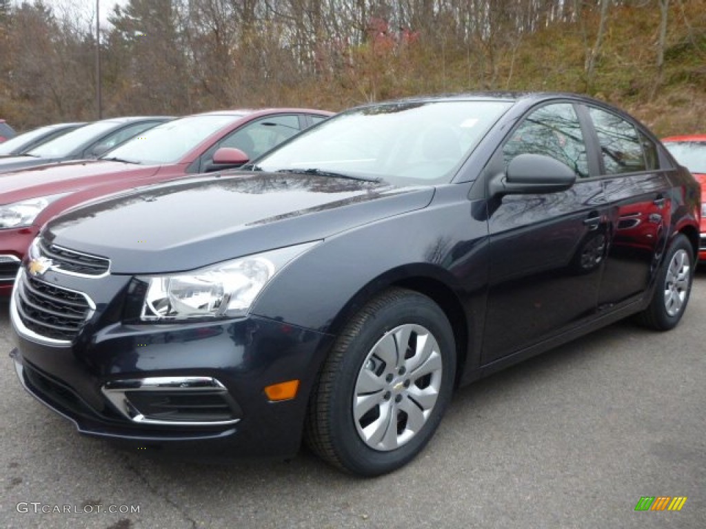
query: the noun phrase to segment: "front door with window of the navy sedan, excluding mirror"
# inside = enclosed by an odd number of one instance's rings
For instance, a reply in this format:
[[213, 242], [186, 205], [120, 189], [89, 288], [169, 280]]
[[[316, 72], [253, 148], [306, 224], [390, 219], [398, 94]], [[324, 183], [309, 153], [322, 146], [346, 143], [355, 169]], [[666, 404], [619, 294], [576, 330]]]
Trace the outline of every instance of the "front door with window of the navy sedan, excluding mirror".
[[491, 262], [481, 363], [487, 365], [592, 317], [606, 251], [606, 201], [590, 178], [586, 137], [574, 105], [530, 112], [495, 155], [544, 154], [576, 173], [559, 193], [489, 201]]

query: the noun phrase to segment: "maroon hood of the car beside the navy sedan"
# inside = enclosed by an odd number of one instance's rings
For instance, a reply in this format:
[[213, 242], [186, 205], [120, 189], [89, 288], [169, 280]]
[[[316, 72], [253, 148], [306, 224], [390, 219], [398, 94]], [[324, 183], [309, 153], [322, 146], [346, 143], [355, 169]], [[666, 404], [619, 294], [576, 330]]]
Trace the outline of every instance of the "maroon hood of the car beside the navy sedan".
[[[102, 183], [111, 173], [123, 174], [133, 171], [152, 174], [159, 166], [139, 166], [124, 162], [82, 160], [62, 164], [42, 165], [0, 174], [0, 203], [11, 204], [18, 200], [44, 197], [56, 193], [76, 190], [94, 183]], [[93, 181], [95, 179], [95, 182]]]

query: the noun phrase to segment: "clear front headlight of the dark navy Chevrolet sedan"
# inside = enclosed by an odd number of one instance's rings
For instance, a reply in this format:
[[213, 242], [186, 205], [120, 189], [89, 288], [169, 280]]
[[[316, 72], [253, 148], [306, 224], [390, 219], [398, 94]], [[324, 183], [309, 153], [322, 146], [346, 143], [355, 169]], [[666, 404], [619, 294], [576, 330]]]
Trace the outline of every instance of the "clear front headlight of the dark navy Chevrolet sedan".
[[140, 320], [176, 322], [244, 316], [268, 281], [316, 243], [240, 257], [189, 274], [139, 277], [148, 284]]

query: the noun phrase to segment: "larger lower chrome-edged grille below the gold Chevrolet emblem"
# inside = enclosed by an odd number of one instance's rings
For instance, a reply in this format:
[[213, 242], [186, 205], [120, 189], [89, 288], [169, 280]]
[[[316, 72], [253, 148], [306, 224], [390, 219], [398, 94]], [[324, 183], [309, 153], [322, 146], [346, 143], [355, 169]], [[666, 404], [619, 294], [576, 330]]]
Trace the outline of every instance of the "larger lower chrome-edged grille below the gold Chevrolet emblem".
[[30, 331], [55, 340], [72, 340], [93, 313], [84, 294], [21, 274], [16, 285], [18, 317]]

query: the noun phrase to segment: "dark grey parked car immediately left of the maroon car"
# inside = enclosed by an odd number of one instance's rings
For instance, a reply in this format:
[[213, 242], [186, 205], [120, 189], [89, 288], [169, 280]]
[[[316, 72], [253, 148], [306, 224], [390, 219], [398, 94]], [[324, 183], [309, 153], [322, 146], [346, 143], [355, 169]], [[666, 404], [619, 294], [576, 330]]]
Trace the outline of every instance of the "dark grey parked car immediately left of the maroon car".
[[170, 119], [173, 118], [140, 116], [95, 121], [35, 147], [23, 156], [0, 158], [0, 173], [66, 160], [97, 158], [133, 136]]

